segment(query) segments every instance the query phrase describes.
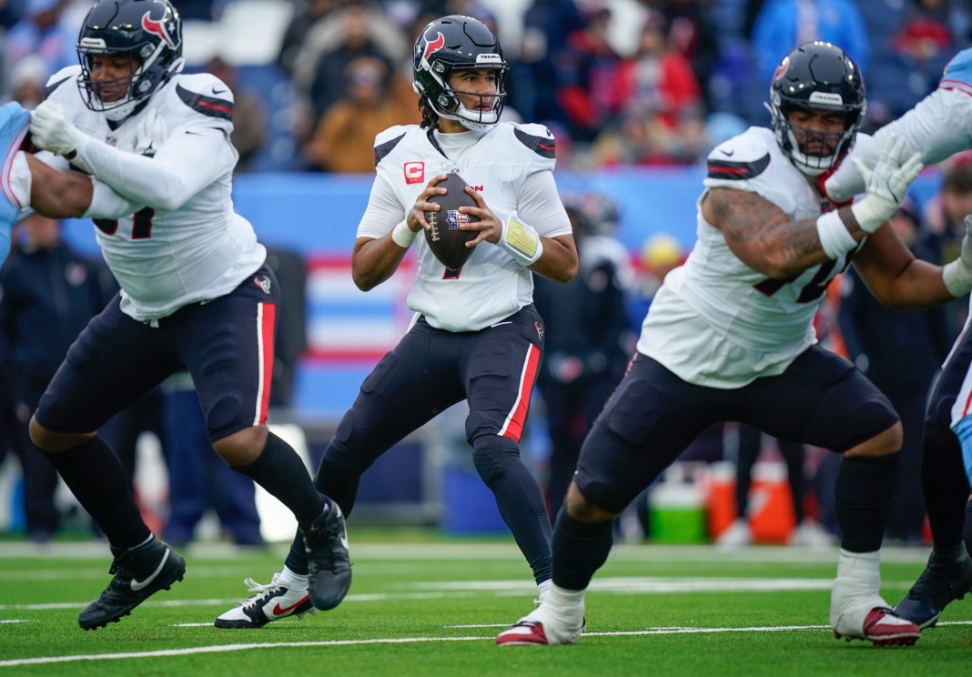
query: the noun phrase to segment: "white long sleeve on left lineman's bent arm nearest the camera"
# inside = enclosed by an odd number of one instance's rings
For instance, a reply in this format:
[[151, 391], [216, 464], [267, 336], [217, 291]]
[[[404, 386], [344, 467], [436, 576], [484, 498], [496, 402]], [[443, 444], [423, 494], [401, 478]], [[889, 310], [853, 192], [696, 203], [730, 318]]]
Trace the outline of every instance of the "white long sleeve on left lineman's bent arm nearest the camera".
[[167, 211], [182, 207], [236, 162], [226, 132], [216, 127], [176, 130], [155, 157], [119, 151], [90, 137], [78, 154], [94, 176], [124, 197]]

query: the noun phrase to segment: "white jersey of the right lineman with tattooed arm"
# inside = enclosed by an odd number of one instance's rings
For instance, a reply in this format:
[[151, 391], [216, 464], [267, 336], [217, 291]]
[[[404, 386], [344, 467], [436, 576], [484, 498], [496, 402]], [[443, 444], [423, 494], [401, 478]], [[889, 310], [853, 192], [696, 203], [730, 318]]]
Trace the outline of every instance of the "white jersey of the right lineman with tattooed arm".
[[[790, 220], [815, 218], [824, 208], [816, 188], [764, 127], [750, 127], [715, 148], [705, 186], [751, 190]], [[651, 302], [639, 352], [699, 386], [740, 388], [780, 374], [816, 343], [816, 309], [846, 256], [776, 280], [733, 254], [701, 209], [696, 236], [685, 264], [668, 274]]]

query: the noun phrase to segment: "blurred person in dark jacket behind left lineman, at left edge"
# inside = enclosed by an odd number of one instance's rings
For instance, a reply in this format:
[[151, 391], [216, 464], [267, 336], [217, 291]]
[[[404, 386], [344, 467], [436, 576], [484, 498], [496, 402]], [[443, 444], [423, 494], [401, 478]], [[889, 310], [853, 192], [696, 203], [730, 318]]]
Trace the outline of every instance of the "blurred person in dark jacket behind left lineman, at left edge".
[[59, 220], [32, 214], [17, 230], [17, 246], [0, 274], [0, 333], [9, 351], [17, 416], [11, 432], [23, 470], [27, 537], [47, 543], [61, 523], [57, 471], [30, 442], [27, 423], [68, 347], [118, 288], [103, 263], [64, 242]]

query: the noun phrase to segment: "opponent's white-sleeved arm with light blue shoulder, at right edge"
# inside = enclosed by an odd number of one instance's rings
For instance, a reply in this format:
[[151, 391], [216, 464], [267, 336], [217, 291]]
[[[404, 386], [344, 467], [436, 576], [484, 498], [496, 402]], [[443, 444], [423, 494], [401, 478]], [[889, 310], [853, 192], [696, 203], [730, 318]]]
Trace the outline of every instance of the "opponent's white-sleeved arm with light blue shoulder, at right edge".
[[[938, 88], [905, 115], [885, 124], [874, 138], [858, 134], [851, 156], [873, 167], [891, 134], [905, 140], [905, 157], [921, 152], [926, 165], [972, 149], [972, 49], [962, 50], [945, 68]], [[838, 202], [864, 191], [864, 181], [845, 160], [827, 179], [827, 194]]]

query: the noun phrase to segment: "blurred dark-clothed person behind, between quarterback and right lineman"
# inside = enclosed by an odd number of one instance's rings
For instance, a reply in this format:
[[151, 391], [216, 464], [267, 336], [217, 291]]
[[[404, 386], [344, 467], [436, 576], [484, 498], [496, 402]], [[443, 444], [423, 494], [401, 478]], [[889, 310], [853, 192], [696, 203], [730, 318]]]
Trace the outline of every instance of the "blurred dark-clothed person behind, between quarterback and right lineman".
[[[625, 292], [603, 232], [613, 224], [598, 219], [607, 197], [579, 195], [565, 200], [573, 225], [579, 270], [566, 285], [538, 277], [534, 302], [546, 320], [543, 362], [537, 387], [550, 436], [547, 505], [560, 512], [571, 484], [580, 445], [624, 373], [622, 347], [628, 327]], [[616, 208], [614, 210], [616, 212]]]

